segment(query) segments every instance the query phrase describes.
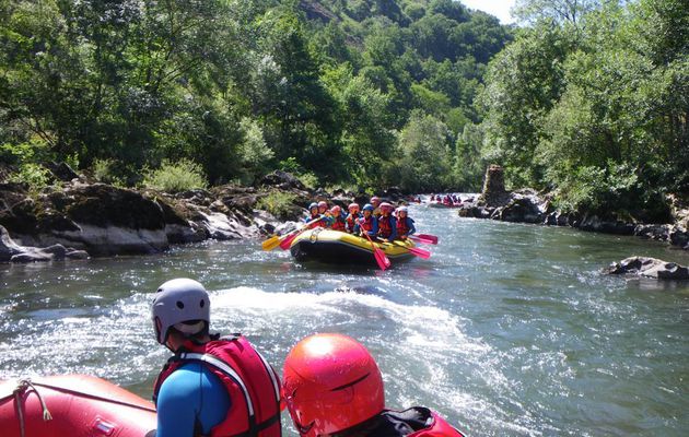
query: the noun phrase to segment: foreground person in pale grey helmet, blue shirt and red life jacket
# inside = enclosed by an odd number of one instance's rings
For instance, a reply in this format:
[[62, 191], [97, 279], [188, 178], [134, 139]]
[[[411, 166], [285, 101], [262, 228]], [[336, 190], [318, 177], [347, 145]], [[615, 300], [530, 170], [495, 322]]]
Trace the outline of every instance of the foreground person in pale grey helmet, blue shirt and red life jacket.
[[174, 353], [157, 376], [156, 437], [280, 437], [280, 379], [241, 334], [210, 334], [203, 285], [175, 279], [153, 299], [155, 340]]

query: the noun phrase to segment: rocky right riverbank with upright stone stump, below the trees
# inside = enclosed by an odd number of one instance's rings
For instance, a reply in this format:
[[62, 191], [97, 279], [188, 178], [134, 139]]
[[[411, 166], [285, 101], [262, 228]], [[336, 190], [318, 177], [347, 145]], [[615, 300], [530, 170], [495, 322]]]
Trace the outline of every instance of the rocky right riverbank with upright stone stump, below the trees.
[[689, 209], [677, 201], [674, 202], [672, 209], [674, 223], [665, 224], [638, 223], [615, 213], [562, 213], [554, 209], [549, 194], [540, 194], [530, 189], [506, 191], [503, 169], [499, 166], [488, 168], [481, 196], [474, 201], [464, 202], [458, 213], [463, 217], [570, 226], [581, 231], [635, 235], [667, 241], [673, 246], [689, 250]]

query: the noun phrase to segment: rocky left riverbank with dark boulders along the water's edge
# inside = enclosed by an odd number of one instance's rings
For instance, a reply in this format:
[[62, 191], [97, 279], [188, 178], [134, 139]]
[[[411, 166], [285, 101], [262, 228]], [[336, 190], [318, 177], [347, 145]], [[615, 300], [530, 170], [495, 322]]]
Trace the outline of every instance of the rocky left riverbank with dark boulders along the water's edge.
[[[21, 184], [0, 184], [0, 262], [145, 255], [210, 238], [258, 238], [299, 220], [314, 200], [343, 206], [367, 200], [341, 190], [310, 190], [284, 172], [266, 176], [256, 187], [226, 185], [175, 194], [56, 172], [57, 180], [67, 180], [38, 193]], [[385, 194], [400, 196], [395, 190]], [[289, 200], [278, 216], [260, 202], [271, 196]]]

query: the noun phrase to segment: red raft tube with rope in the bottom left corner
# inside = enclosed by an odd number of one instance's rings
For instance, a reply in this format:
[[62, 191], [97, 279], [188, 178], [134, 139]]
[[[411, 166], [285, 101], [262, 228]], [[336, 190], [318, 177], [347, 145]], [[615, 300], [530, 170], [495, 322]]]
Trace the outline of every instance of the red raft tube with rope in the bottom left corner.
[[101, 378], [0, 381], [2, 437], [152, 437], [155, 427], [151, 402]]

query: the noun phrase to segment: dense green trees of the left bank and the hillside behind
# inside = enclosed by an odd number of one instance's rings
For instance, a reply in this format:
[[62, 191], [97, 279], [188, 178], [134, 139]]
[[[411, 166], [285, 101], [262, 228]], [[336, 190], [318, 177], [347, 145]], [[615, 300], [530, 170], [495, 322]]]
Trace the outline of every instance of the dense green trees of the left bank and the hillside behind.
[[131, 185], [164, 160], [250, 184], [294, 158], [304, 178], [381, 188], [414, 110], [456, 134], [479, 121], [483, 63], [511, 39], [449, 0], [122, 4], [3, 3], [0, 143], [45, 144], [3, 160]]

